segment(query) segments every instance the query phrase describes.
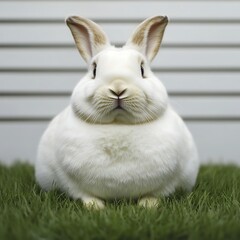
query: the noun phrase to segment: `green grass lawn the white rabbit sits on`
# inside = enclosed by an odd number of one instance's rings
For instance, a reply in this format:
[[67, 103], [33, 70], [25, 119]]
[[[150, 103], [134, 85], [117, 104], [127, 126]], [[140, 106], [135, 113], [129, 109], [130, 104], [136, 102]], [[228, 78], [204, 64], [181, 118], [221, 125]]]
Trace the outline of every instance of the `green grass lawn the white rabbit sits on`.
[[90, 211], [57, 191], [41, 191], [32, 167], [0, 167], [0, 239], [240, 239], [240, 168], [202, 167], [191, 194], [158, 209], [112, 202]]

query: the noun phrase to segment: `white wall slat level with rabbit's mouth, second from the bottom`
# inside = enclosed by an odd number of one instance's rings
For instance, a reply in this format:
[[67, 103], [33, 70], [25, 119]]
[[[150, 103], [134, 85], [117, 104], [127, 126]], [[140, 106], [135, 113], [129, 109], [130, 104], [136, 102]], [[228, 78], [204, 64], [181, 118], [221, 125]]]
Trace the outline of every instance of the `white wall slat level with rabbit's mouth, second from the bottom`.
[[[170, 98], [183, 118], [240, 118], [240, 97], [177, 97]], [[68, 104], [69, 97], [2, 97], [0, 118], [51, 118]]]

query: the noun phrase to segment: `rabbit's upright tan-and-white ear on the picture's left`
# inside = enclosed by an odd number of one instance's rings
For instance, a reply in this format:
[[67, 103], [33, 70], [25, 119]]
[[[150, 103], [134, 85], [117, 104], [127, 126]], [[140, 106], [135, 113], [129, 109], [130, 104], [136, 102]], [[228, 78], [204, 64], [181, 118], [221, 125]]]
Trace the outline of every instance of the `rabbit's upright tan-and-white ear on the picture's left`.
[[109, 41], [103, 30], [89, 19], [71, 16], [66, 19], [78, 51], [86, 62], [109, 46]]

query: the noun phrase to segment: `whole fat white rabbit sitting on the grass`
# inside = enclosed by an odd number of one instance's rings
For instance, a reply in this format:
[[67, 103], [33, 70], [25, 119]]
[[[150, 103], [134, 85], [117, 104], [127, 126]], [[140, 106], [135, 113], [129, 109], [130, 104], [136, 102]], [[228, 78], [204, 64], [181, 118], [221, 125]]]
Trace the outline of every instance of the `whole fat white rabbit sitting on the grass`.
[[122, 48], [111, 46], [88, 19], [66, 22], [89, 70], [42, 136], [37, 182], [96, 208], [119, 198], [151, 207], [176, 188], [191, 190], [199, 169], [196, 146], [149, 66], [167, 17], [146, 19]]

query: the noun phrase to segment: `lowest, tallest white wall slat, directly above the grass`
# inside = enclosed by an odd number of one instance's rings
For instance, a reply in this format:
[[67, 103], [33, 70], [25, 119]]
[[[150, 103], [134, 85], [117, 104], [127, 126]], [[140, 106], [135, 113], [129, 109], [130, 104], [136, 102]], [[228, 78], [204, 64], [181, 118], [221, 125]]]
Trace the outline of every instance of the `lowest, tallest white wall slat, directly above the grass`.
[[[0, 163], [11, 164], [16, 159], [33, 163], [47, 125], [48, 122], [0, 122]], [[187, 125], [202, 163], [240, 164], [240, 122], [187, 122]]]

